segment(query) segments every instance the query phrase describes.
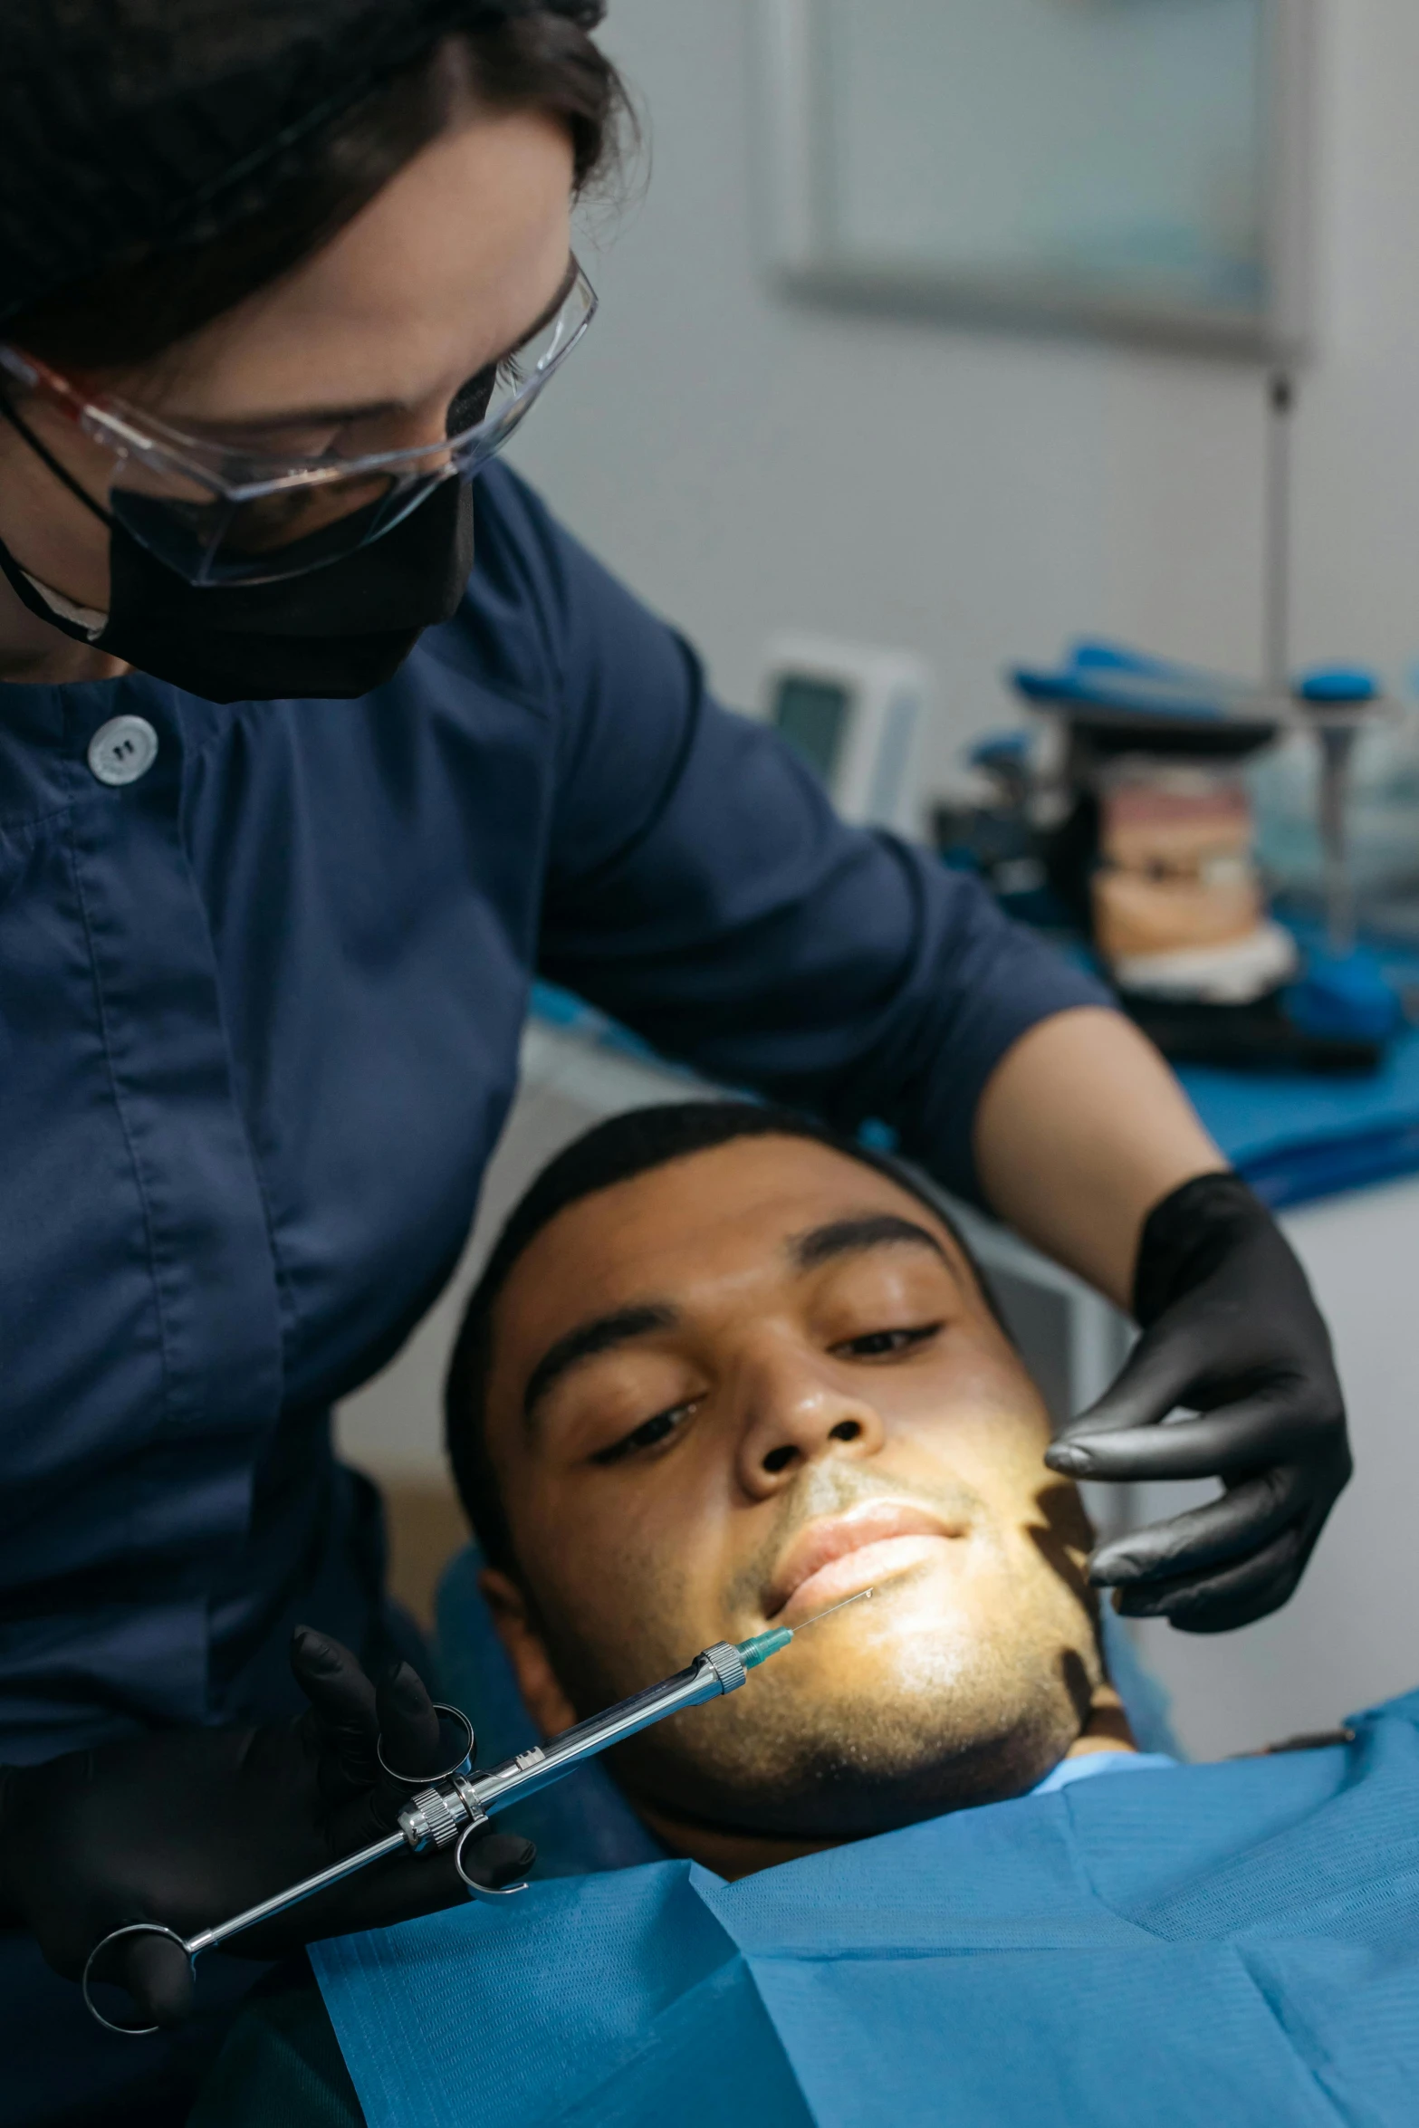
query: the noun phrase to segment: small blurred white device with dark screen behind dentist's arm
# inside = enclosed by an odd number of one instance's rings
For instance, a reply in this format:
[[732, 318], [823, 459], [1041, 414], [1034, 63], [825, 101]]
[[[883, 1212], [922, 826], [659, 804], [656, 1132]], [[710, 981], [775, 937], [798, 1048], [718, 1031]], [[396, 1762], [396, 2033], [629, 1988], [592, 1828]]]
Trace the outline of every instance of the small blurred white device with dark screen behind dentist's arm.
[[930, 668], [906, 651], [781, 636], [770, 645], [764, 713], [864, 828], [921, 832], [917, 764]]

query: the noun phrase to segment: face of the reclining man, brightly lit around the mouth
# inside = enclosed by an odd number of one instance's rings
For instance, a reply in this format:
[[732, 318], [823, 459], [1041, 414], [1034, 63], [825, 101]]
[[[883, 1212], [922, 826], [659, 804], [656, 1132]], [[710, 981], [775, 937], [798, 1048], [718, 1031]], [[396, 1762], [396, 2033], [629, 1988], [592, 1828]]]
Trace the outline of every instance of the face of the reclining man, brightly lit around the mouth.
[[851, 1836], [1019, 1794], [1079, 1736], [1079, 1498], [947, 1228], [874, 1170], [749, 1138], [562, 1213], [498, 1300], [487, 1436], [549, 1728], [877, 1592], [623, 1747], [649, 1807]]

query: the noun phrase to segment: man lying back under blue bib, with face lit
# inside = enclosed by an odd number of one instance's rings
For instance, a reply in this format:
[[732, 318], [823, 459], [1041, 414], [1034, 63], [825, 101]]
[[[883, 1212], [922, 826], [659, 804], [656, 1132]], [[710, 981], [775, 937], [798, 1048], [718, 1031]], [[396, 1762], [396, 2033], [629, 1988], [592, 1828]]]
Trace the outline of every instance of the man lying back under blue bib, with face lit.
[[872, 1598], [615, 1753], [645, 1866], [317, 1947], [330, 2022], [272, 1994], [194, 2128], [1413, 2128], [1419, 1694], [1136, 1751], [1042, 1402], [911, 1177], [764, 1109], [615, 1119], [513, 1213], [447, 1404], [545, 1736]]

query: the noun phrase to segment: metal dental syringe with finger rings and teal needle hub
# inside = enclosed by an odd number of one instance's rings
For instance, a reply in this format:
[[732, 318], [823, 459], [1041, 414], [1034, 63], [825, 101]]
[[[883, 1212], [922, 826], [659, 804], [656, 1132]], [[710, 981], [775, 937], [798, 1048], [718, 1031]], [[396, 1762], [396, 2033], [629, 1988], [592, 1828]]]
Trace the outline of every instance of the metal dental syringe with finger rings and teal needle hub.
[[553, 1781], [562, 1781], [589, 1758], [611, 1751], [613, 1745], [625, 1743], [628, 1736], [636, 1736], [655, 1722], [666, 1722], [687, 1707], [700, 1707], [704, 1700], [738, 1692], [749, 1681], [749, 1670], [757, 1670], [770, 1656], [781, 1653], [796, 1634], [868, 1596], [872, 1596], [872, 1590], [859, 1590], [857, 1596], [845, 1596], [842, 1602], [819, 1611], [817, 1617], [806, 1619], [802, 1626], [791, 1630], [779, 1626], [774, 1632], [759, 1632], [751, 1641], [740, 1641], [738, 1647], [719, 1641], [696, 1656], [687, 1670], [668, 1677], [662, 1685], [651, 1685], [649, 1692], [638, 1692], [634, 1698], [621, 1700], [619, 1707], [608, 1707], [604, 1715], [581, 1722], [534, 1751], [519, 1751], [517, 1758], [508, 1758], [487, 1773], [472, 1770], [470, 1751], [474, 1736], [468, 1717], [457, 1707], [440, 1707], [438, 1713], [449, 1715], [466, 1734], [464, 1756], [445, 1773], [419, 1775], [417, 1779], [408, 1779], [385, 1766], [385, 1773], [402, 1788], [417, 1790], [400, 1811], [398, 1832], [387, 1832], [383, 1841], [360, 1847], [353, 1856], [345, 1856], [343, 1862], [332, 1862], [330, 1868], [317, 1871], [315, 1877], [304, 1877], [300, 1883], [289, 1885], [289, 1890], [277, 1892], [255, 1907], [247, 1907], [245, 1913], [236, 1913], [230, 1922], [198, 1930], [196, 1936], [179, 1936], [174, 1928], [162, 1928], [157, 1922], [134, 1922], [128, 1928], [115, 1928], [89, 1951], [89, 1962], [83, 1968], [83, 1998], [89, 2013], [111, 2032], [143, 2036], [157, 2030], [155, 2024], [115, 2024], [98, 2009], [91, 1990], [94, 1983], [102, 1981], [104, 1954], [113, 1951], [115, 1945], [134, 1943], [138, 1936], [157, 1936], [164, 1943], [177, 1943], [196, 1962], [202, 1951], [219, 1949], [247, 1928], [257, 1928], [262, 1922], [300, 1907], [306, 1898], [315, 1898], [319, 1892], [328, 1892], [332, 1885], [345, 1883], [347, 1877], [372, 1868], [374, 1862], [383, 1862], [387, 1856], [400, 1851], [438, 1853], [445, 1847], [453, 1847], [453, 1866], [472, 1898], [511, 1898], [515, 1892], [525, 1892], [525, 1883], [494, 1892], [477, 1883], [464, 1866], [464, 1847], [483, 1832], [494, 1811], [506, 1809], [506, 1805], [521, 1800], [521, 1796], [534, 1796], [538, 1788], [551, 1788]]

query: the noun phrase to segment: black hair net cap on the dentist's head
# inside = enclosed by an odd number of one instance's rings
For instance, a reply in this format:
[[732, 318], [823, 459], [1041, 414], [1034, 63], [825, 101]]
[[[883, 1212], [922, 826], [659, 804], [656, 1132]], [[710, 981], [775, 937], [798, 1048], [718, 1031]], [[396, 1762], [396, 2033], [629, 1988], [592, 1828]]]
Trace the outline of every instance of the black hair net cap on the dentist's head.
[[604, 0], [0, 0], [0, 323], [236, 228], [451, 30]]

